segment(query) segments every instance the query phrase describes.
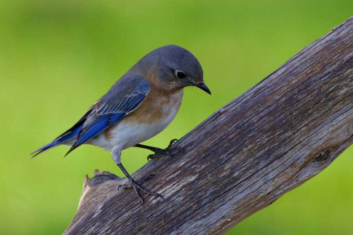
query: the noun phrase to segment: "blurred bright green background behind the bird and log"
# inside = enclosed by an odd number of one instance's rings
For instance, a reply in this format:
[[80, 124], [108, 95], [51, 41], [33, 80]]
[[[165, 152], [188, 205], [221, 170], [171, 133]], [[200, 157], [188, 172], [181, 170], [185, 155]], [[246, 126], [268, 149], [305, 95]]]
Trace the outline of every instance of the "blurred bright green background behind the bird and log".
[[[187, 88], [166, 147], [307, 44], [353, 15], [353, 1], [0, 1], [0, 234], [61, 234], [83, 177], [124, 177], [109, 152], [67, 146], [28, 154], [74, 124], [146, 53], [166, 44], [201, 62], [212, 95]], [[226, 234], [353, 234], [353, 148]], [[132, 173], [148, 150], [127, 149]]]

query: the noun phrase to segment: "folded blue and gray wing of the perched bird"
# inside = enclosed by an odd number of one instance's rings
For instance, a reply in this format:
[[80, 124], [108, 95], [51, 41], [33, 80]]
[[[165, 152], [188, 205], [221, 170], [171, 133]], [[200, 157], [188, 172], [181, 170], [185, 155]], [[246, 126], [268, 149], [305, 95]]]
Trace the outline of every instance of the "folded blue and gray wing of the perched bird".
[[107, 94], [91, 107], [90, 113], [85, 114], [86, 119], [82, 127], [80, 126], [77, 141], [66, 155], [110, 126], [118, 123], [141, 103], [149, 91], [150, 88], [144, 78], [138, 75], [127, 76], [125, 74], [115, 82]]

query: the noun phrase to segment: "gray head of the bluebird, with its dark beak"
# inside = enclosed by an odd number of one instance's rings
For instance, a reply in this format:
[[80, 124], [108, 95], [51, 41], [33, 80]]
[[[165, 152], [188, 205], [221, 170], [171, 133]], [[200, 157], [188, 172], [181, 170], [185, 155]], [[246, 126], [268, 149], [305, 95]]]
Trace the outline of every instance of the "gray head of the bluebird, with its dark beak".
[[166, 45], [151, 51], [131, 69], [134, 72], [147, 73], [147, 80], [169, 92], [186, 86], [196, 86], [211, 94], [203, 83], [200, 62], [190, 51], [177, 45]]

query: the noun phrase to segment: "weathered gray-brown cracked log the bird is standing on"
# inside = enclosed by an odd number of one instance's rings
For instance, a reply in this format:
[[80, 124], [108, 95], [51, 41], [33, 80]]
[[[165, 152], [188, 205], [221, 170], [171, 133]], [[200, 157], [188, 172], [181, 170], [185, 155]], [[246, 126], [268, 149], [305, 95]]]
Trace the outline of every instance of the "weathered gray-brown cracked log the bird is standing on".
[[353, 142], [352, 35], [353, 17], [132, 174], [164, 200], [86, 177], [64, 234], [222, 234], [321, 172]]

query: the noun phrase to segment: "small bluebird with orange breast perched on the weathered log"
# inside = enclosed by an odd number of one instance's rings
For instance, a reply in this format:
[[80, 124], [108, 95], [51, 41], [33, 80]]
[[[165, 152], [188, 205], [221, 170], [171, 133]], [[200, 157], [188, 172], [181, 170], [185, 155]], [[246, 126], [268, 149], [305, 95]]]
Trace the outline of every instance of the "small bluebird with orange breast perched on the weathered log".
[[76, 124], [31, 154], [36, 156], [60, 144], [71, 146], [66, 155], [82, 144], [102, 147], [111, 152], [115, 164], [130, 182], [119, 187], [133, 188], [142, 203], [139, 191], [163, 199], [161, 194], [141, 186], [153, 174], [141, 181], [132, 179], [121, 164], [121, 150], [140, 147], [157, 155], [172, 154], [177, 148], [171, 148], [175, 140], [166, 149], [140, 143], [172, 122], [187, 86], [196, 86], [211, 94], [203, 82], [203, 70], [197, 58], [177, 45], [152, 50], [116, 81]]

